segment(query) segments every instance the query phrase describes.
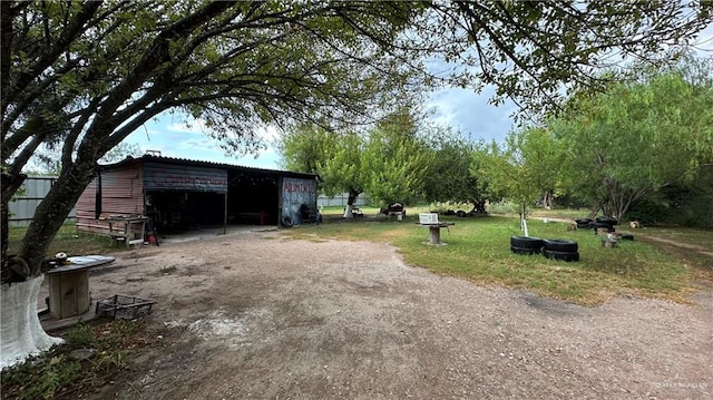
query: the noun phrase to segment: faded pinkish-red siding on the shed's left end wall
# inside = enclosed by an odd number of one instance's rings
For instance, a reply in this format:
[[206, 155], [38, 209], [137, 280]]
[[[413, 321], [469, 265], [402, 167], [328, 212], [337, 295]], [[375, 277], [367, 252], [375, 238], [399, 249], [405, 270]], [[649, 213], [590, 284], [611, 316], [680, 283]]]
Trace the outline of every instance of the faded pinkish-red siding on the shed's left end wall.
[[101, 214], [96, 219], [96, 194], [99, 179], [87, 186], [77, 202], [77, 228], [82, 232], [109, 232], [105, 221], [110, 215], [144, 214], [144, 181], [141, 163], [101, 173]]

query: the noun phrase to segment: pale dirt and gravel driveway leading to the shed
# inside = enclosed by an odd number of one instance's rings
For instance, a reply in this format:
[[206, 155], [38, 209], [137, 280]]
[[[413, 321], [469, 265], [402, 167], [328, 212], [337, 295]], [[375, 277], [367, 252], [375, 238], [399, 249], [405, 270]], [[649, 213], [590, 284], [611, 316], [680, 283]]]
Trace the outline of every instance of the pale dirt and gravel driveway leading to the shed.
[[367, 242], [215, 236], [120, 254], [94, 299], [157, 300], [120, 399], [697, 399], [713, 295], [583, 308], [404, 265]]

